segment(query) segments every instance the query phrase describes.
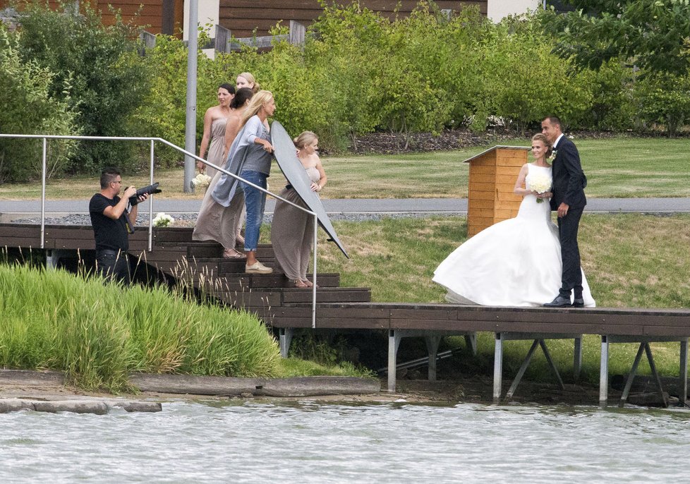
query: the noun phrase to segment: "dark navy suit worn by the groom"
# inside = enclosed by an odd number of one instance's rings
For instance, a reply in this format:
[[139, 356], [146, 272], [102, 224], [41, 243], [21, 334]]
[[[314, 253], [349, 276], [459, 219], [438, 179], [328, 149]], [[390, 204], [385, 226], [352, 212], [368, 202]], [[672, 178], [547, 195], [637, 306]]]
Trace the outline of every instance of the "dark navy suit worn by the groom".
[[565, 217], [558, 217], [558, 234], [561, 241], [561, 260], [563, 272], [561, 296], [570, 297], [574, 291], [576, 298], [582, 297], [582, 272], [580, 270], [580, 249], [577, 245], [577, 231], [580, 217], [587, 199], [584, 188], [587, 179], [582, 171], [580, 155], [575, 144], [562, 136], [555, 147], [556, 157], [552, 164], [553, 196], [551, 210], [558, 210], [561, 203], [569, 206]]

